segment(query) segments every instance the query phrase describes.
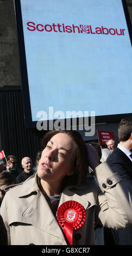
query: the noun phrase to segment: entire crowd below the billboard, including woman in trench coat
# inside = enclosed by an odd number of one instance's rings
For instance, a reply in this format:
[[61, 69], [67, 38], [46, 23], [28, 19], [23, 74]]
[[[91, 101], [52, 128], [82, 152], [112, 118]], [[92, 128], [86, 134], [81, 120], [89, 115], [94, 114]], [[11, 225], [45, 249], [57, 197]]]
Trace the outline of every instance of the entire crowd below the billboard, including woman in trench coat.
[[28, 156], [22, 171], [16, 156], [0, 161], [0, 243], [132, 245], [132, 118], [121, 120], [118, 145], [77, 131], [49, 131], [42, 143], [34, 167]]

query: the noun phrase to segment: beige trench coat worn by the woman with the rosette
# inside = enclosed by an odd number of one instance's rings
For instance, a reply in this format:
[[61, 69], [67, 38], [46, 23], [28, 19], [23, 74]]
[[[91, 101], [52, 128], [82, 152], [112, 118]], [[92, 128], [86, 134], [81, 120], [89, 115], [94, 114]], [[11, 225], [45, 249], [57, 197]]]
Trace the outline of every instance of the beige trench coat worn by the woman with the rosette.
[[[132, 225], [131, 181], [129, 184], [121, 180], [106, 163], [100, 164], [95, 173], [103, 193], [98, 194], [97, 183], [89, 176], [80, 186], [66, 187], [61, 194], [59, 206], [74, 200], [86, 211], [84, 225], [73, 231], [73, 245], [93, 245], [95, 219], [109, 228], [124, 229]], [[36, 175], [10, 188], [3, 199], [1, 215], [11, 245], [67, 245], [37, 185]]]

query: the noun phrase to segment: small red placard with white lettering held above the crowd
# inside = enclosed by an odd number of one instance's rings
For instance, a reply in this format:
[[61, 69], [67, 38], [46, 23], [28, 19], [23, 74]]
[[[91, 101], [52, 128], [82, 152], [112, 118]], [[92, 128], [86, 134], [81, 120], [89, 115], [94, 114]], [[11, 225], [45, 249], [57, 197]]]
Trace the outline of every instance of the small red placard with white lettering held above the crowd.
[[111, 131], [99, 131], [97, 130], [98, 142], [100, 145], [106, 144], [109, 139], [113, 139], [115, 141], [114, 132]]

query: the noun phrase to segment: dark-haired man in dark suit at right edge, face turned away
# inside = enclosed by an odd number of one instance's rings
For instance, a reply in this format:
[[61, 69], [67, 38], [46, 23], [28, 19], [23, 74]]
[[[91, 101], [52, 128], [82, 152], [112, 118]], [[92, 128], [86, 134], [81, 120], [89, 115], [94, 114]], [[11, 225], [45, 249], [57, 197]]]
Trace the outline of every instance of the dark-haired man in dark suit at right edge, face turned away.
[[[132, 186], [132, 118], [124, 118], [118, 127], [118, 145], [106, 160], [122, 178], [131, 180]], [[132, 245], [132, 228], [113, 230], [117, 245]]]

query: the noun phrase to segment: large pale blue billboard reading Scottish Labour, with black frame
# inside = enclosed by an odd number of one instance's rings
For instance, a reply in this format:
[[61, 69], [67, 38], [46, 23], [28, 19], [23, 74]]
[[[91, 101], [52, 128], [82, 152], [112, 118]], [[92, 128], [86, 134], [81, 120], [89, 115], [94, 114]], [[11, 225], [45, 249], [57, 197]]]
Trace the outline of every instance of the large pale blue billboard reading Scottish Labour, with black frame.
[[125, 1], [16, 0], [15, 11], [27, 126], [71, 113], [95, 113], [97, 122], [132, 113]]

